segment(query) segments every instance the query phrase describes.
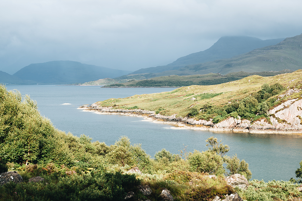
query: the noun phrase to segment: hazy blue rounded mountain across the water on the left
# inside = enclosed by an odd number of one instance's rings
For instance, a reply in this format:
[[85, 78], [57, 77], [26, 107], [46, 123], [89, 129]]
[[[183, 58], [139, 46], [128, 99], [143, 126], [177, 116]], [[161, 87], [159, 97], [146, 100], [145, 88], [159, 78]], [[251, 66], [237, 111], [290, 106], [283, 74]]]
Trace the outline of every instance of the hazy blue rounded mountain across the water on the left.
[[30, 64], [13, 75], [23, 80], [35, 80], [41, 83], [69, 84], [114, 78], [130, 72], [82, 64], [76, 61], [49, 61]]

